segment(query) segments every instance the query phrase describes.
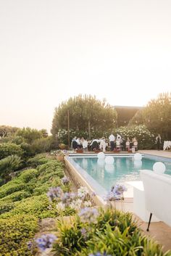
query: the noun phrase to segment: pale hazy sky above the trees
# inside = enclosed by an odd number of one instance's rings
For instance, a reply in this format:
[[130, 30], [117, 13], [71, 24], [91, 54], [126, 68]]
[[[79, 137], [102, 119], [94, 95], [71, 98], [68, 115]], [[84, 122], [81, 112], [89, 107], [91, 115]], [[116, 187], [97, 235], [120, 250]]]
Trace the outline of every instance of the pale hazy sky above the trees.
[[170, 0], [0, 0], [0, 125], [51, 129], [78, 94], [146, 106], [171, 91]]

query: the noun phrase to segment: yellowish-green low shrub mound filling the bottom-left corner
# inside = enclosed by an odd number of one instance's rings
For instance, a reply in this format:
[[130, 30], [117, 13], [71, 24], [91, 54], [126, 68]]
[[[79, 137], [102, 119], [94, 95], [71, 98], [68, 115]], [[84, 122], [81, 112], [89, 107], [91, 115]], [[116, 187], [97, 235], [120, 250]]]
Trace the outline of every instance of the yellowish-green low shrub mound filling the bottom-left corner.
[[27, 241], [38, 230], [38, 220], [33, 215], [15, 215], [0, 219], [0, 255], [31, 256]]

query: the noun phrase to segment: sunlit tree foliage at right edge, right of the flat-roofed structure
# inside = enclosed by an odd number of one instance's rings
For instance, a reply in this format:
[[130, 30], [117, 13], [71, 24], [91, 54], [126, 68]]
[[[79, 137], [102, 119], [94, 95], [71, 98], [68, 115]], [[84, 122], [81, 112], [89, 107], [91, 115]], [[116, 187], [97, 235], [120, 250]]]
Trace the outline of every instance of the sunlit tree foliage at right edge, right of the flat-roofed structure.
[[133, 117], [131, 124], [143, 123], [154, 133], [160, 133], [165, 140], [171, 139], [171, 93], [159, 94], [157, 99], [151, 99], [147, 106]]

